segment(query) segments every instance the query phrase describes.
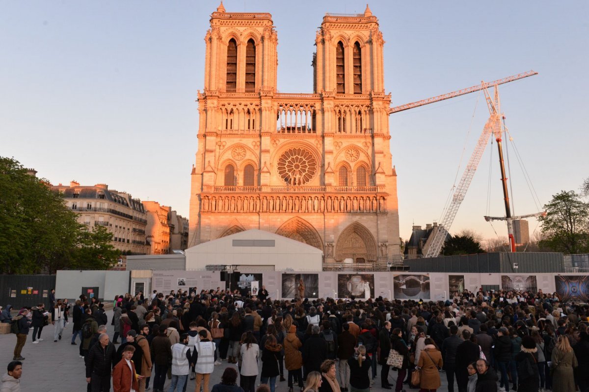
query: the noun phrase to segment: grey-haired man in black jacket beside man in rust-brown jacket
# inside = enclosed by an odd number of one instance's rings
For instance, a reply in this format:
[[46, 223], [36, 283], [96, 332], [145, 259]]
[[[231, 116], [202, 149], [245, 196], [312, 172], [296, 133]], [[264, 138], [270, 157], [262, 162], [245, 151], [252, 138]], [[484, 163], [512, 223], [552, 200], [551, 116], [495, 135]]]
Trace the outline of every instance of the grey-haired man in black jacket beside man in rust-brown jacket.
[[108, 334], [101, 334], [85, 358], [86, 382], [90, 384], [91, 392], [110, 391], [114, 356], [114, 344], [110, 343]]

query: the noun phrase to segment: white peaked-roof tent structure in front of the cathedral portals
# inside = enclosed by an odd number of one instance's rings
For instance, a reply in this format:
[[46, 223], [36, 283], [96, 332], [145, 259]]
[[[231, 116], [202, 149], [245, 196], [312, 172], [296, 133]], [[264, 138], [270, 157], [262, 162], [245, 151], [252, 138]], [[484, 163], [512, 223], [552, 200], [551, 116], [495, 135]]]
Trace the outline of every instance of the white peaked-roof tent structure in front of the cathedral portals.
[[[207, 265], [252, 266], [260, 270], [320, 271], [323, 252], [263, 230], [246, 230], [186, 249], [186, 269]], [[255, 268], [254, 268], [255, 267]]]

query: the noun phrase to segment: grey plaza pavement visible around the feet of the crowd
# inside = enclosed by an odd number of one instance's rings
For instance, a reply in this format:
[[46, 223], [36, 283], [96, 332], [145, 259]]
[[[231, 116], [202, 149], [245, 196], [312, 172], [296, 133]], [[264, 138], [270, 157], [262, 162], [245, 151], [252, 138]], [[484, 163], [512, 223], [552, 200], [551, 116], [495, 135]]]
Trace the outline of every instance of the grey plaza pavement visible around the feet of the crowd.
[[[112, 311], [107, 311], [108, 320], [110, 322]], [[71, 321], [71, 319], [70, 319]], [[27, 337], [27, 344], [22, 349], [22, 356], [25, 357], [22, 366], [21, 390], [35, 391], [35, 392], [85, 392], [86, 379], [84, 360], [78, 355], [79, 346], [73, 346], [71, 342], [72, 324], [65, 327], [63, 339], [58, 340], [57, 343], [53, 341], [54, 327], [49, 326], [43, 329], [41, 338], [43, 341], [38, 344], [32, 344], [32, 329]], [[111, 337], [114, 334], [114, 327], [108, 325], [108, 335]], [[77, 340], [80, 343], [80, 340]], [[0, 374], [6, 373], [6, 366], [12, 361], [12, 353], [16, 344], [16, 336], [14, 334], [0, 335]], [[118, 346], [117, 346], [118, 347]], [[228, 364], [226, 361], [221, 365], [215, 366], [213, 375], [209, 382], [209, 388], [217, 384], [221, 380], [221, 374], [227, 366], [236, 366], [235, 364]], [[260, 370], [262, 366], [260, 365]], [[287, 371], [284, 370], [286, 377]], [[442, 387], [438, 388], [440, 392], [447, 392], [446, 377], [441, 373]], [[389, 381], [395, 383], [396, 371], [391, 371], [389, 374]], [[239, 382], [239, 381], [238, 381]], [[257, 383], [260, 382], [260, 377], [257, 378]], [[170, 386], [170, 380], [166, 381], [166, 387]], [[150, 381], [151, 387], [151, 381]], [[188, 380], [187, 391], [194, 391], [194, 380]], [[406, 391], [418, 391], [418, 389], [409, 390], [405, 385]], [[112, 387], [111, 387], [112, 390]], [[295, 391], [297, 389], [295, 388]], [[277, 392], [287, 392], [288, 386], [286, 381], [282, 383], [276, 381]], [[380, 387], [380, 365], [378, 366], [378, 374], [375, 383], [372, 387], [372, 392], [384, 392], [385, 389]]]

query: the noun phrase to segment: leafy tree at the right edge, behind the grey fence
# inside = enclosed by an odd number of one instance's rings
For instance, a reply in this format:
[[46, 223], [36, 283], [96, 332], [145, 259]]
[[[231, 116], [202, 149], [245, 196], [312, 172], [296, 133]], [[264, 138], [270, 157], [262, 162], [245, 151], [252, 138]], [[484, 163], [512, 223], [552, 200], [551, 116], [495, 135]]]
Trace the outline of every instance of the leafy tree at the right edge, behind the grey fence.
[[544, 209], [540, 246], [567, 254], [589, 252], [589, 203], [574, 190], [562, 190]]

